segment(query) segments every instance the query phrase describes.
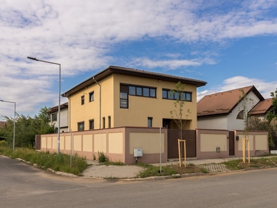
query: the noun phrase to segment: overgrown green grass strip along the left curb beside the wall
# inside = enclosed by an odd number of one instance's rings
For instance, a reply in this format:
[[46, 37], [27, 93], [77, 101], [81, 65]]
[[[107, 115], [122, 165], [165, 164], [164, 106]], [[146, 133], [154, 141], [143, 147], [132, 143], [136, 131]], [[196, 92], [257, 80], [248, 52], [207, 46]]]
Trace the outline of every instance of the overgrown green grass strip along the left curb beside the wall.
[[62, 171], [64, 173], [72, 173], [74, 175], [82, 175], [82, 172], [87, 168], [87, 161], [83, 157], [79, 157], [77, 154], [72, 156], [72, 166], [70, 166], [70, 155], [60, 153], [44, 153], [37, 152], [36, 150], [29, 148], [12, 148], [0, 147], [0, 154], [6, 155], [13, 159], [20, 158], [31, 164], [37, 164], [42, 168], [51, 168], [54, 171]]

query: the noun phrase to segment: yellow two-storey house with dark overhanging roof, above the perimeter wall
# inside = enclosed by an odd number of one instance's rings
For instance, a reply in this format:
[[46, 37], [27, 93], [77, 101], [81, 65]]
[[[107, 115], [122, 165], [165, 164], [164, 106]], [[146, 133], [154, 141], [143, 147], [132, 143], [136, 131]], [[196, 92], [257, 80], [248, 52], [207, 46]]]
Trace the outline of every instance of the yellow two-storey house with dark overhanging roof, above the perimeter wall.
[[116, 66], [107, 67], [62, 94], [69, 98], [69, 129], [177, 128], [170, 114], [175, 110], [175, 98], [170, 90], [179, 81], [186, 85], [182, 94], [187, 100], [184, 112], [191, 111], [185, 129], [195, 129], [197, 87], [206, 82]]

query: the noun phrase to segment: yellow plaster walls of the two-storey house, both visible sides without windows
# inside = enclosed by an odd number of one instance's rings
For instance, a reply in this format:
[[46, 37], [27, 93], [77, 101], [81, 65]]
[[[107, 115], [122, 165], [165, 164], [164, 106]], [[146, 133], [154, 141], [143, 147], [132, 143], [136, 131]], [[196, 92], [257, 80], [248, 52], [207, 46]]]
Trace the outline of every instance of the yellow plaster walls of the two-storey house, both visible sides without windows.
[[[121, 126], [147, 127], [148, 117], [152, 117], [152, 126], [162, 126], [163, 119], [171, 119], [170, 110], [175, 110], [175, 101], [162, 99], [162, 89], [175, 89], [176, 83], [138, 78], [120, 74], [111, 74], [98, 82], [101, 85], [101, 116], [99, 118], [99, 86], [94, 83], [69, 97], [69, 128], [78, 130], [78, 122], [84, 121], [84, 130], [89, 130], [89, 120], [94, 119], [94, 128], [101, 128], [105, 117], [105, 128], [108, 128], [108, 117], [111, 116], [111, 128]], [[129, 96], [129, 108], [120, 108], [120, 83], [157, 87], [157, 98]], [[186, 129], [197, 128], [197, 88], [186, 85], [185, 91], [192, 92], [192, 102], [186, 102], [183, 113], [190, 109]], [[89, 92], [94, 92], [94, 101], [89, 102]], [[84, 96], [84, 105], [81, 105]], [[173, 124], [172, 128], [176, 128]]]

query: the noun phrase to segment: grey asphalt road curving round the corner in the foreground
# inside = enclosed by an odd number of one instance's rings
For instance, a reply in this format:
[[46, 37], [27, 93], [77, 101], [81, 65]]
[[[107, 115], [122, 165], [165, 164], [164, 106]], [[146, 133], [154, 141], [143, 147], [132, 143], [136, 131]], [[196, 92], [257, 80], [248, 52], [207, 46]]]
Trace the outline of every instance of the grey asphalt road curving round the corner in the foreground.
[[277, 168], [173, 180], [64, 177], [0, 155], [0, 207], [277, 207]]

